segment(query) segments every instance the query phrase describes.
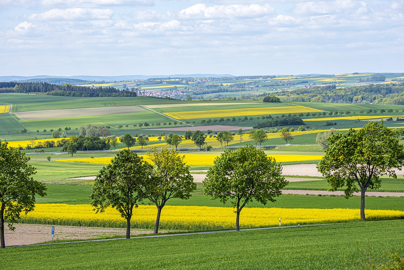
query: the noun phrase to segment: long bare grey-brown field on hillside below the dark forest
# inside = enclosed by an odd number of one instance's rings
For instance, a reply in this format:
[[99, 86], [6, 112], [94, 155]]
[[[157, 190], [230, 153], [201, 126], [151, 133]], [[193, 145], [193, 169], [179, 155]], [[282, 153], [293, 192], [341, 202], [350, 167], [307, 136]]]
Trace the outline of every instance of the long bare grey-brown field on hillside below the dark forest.
[[84, 109], [66, 109], [66, 110], [44, 110], [31, 112], [13, 113], [21, 120], [48, 119], [48, 118], [66, 118], [77, 116], [93, 116], [106, 114], [125, 114], [130, 112], [144, 112], [139, 106], [119, 106], [102, 108], [84, 108]]

